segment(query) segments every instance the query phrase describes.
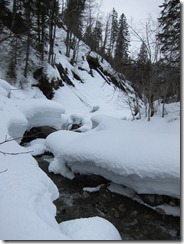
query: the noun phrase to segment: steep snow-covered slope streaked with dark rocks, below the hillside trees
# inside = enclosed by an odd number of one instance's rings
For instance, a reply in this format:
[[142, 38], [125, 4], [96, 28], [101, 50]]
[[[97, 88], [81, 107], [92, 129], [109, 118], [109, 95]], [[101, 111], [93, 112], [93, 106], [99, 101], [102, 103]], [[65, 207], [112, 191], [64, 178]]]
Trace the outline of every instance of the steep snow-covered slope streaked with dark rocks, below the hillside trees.
[[[56, 64], [61, 64], [62, 69], [73, 85], [67, 84], [65, 78], [59, 74], [56, 65], [54, 68], [47, 65], [46, 75], [51, 82], [52, 79], [62, 80], [64, 86], [54, 91], [54, 101], [62, 104], [67, 113], [88, 113], [95, 109], [107, 115], [120, 118], [131, 118], [130, 104], [133, 106], [135, 92], [124, 81], [105, 60], [101, 62], [101, 57], [95, 52], [91, 52], [89, 47], [81, 41], [77, 62], [72, 65], [71, 58], [65, 56], [64, 29], [57, 29], [55, 40]], [[72, 55], [72, 51], [71, 51]], [[87, 57], [97, 60], [100, 68], [91, 69]], [[112, 82], [112, 77], [117, 80], [124, 91]], [[126, 92], [125, 92], [126, 91]], [[141, 101], [139, 100], [141, 104]]]

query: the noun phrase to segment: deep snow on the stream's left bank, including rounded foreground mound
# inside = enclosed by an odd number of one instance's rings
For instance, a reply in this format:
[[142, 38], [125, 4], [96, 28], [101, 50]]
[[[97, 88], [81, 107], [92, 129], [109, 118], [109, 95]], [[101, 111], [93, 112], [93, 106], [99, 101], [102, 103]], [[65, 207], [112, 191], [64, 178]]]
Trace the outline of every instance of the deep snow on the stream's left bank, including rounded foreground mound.
[[45, 140], [34, 140], [27, 147], [18, 143], [28, 128], [60, 129], [64, 108], [37, 89], [16, 90], [2, 79], [0, 88], [0, 239], [120, 240], [116, 228], [100, 217], [61, 226], [56, 222], [53, 201], [59, 197], [58, 189], [31, 156], [48, 150]]

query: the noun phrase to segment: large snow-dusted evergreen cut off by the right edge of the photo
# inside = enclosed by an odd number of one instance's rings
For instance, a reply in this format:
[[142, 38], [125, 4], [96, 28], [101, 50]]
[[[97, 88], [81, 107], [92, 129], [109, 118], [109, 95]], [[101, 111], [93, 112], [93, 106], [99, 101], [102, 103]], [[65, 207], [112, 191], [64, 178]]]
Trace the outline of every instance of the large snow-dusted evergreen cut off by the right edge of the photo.
[[168, 81], [172, 79], [174, 83], [172, 87], [175, 89], [172, 91], [172, 96], [177, 95], [177, 100], [179, 100], [181, 4], [179, 0], [165, 0], [160, 7], [162, 10], [158, 21], [161, 31], [157, 37], [161, 45], [162, 65], [165, 66], [165, 79]]

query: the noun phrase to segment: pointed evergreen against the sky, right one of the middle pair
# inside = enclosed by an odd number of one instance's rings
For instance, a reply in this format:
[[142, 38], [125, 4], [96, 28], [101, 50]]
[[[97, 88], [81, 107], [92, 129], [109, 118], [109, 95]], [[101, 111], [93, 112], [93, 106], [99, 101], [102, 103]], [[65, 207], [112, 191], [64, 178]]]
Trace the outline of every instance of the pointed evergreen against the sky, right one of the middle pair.
[[122, 14], [119, 19], [119, 29], [114, 56], [114, 65], [118, 71], [122, 71], [123, 66], [129, 63], [129, 42], [129, 31], [126, 17]]

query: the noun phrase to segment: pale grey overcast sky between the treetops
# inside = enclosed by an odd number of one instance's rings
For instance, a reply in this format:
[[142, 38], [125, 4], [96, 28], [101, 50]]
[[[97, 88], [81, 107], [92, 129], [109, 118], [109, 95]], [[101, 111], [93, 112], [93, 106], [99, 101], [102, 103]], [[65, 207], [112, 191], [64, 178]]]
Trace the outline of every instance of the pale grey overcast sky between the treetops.
[[[141, 36], [143, 36], [145, 23], [148, 22], [150, 16], [153, 20], [152, 23], [157, 22], [161, 12], [159, 6], [163, 4], [164, 0], [96, 0], [96, 2], [100, 5], [104, 16], [110, 13], [113, 7], [118, 12], [119, 17], [122, 13], [125, 14], [129, 26], [133, 27], [137, 32], [140, 31], [142, 33]], [[130, 29], [129, 32], [131, 39], [129, 51], [133, 58], [140, 51], [142, 42], [131, 33]]]

